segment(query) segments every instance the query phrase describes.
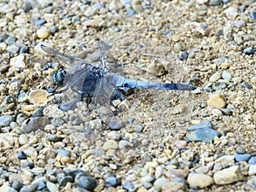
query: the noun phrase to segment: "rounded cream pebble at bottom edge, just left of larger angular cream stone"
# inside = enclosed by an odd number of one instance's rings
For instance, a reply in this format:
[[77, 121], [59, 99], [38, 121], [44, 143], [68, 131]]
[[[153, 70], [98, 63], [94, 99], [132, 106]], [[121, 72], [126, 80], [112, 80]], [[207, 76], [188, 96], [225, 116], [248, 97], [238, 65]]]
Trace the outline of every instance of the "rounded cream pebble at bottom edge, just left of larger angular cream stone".
[[199, 188], [206, 188], [213, 183], [211, 176], [203, 173], [189, 173], [188, 177], [189, 186], [198, 186]]

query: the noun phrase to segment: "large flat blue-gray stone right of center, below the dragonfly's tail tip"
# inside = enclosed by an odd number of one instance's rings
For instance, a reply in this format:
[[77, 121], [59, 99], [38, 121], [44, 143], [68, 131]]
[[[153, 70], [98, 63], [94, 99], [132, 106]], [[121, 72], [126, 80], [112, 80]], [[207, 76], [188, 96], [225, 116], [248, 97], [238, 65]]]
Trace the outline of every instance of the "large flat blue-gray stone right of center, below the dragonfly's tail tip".
[[218, 131], [204, 128], [195, 130], [187, 136], [187, 139], [191, 142], [206, 142], [210, 143], [213, 141], [214, 137], [218, 137]]

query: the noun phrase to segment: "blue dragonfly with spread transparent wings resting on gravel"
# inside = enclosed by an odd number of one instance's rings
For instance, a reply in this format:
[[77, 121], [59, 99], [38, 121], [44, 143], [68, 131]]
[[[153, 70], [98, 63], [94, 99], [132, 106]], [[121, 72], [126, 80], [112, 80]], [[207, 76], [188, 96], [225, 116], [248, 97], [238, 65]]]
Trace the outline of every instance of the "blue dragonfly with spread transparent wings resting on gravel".
[[[62, 110], [67, 111], [75, 108], [76, 103], [81, 101], [84, 97], [91, 98], [89, 105], [90, 110], [95, 108], [96, 105], [112, 104], [115, 99], [124, 100], [125, 96], [119, 90], [120, 88], [195, 90], [195, 87], [190, 84], [149, 82], [125, 78], [124, 75], [119, 74], [121, 72], [119, 64], [110, 52], [112, 46], [100, 39], [97, 39], [97, 43], [100, 51], [99, 65], [41, 45], [41, 48], [48, 55], [70, 64], [67, 72], [61, 72], [64, 82], [62, 89], [56, 92], [61, 94], [61, 100], [65, 100], [65, 102], [61, 103]], [[63, 99], [64, 96], [66, 96], [65, 99]]]

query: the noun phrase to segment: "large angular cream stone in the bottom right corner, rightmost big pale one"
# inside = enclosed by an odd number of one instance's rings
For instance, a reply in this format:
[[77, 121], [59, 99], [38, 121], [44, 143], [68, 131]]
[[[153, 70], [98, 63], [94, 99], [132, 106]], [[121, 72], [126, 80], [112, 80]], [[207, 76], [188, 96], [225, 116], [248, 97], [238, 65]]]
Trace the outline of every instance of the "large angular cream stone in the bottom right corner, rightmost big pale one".
[[221, 171], [215, 172], [213, 175], [214, 183], [230, 184], [244, 179], [239, 166], [231, 166]]

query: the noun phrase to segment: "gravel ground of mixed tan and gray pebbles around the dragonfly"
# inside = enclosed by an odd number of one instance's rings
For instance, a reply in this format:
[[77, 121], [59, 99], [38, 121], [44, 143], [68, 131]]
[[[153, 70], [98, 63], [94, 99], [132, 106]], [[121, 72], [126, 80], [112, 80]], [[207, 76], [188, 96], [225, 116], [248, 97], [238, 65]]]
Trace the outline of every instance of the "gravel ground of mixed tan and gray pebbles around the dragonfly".
[[[256, 191], [255, 1], [17, 0], [0, 14], [0, 192]], [[133, 90], [111, 118], [85, 102], [35, 118], [70, 67], [40, 44], [87, 60], [96, 38], [127, 77], [197, 89]]]

